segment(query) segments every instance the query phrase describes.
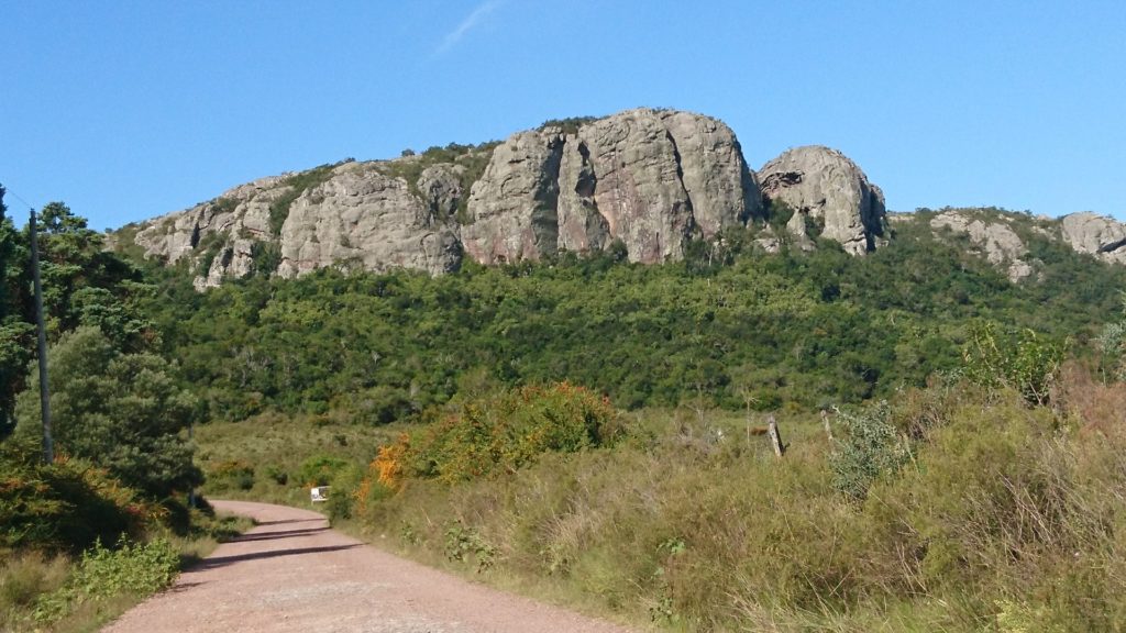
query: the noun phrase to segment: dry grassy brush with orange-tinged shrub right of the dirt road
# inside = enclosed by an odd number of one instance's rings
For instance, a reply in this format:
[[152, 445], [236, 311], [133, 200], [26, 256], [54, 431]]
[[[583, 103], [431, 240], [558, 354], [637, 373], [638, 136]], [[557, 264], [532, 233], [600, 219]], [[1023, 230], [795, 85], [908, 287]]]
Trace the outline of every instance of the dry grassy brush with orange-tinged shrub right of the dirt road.
[[1126, 425], [1102, 416], [1126, 387], [1081, 376], [1051, 405], [936, 383], [840, 416], [832, 439], [812, 416], [784, 418], [784, 458], [757, 425], [654, 412], [613, 448], [444, 478], [410, 465], [439, 424], [385, 447], [350, 525], [678, 630], [1120, 630]]

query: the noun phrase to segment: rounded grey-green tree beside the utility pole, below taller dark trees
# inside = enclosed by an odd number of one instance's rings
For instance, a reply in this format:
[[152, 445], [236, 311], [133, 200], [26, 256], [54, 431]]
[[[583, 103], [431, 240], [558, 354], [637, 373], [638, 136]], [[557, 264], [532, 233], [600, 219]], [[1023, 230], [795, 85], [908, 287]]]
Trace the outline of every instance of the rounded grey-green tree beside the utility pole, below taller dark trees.
[[[60, 453], [89, 460], [155, 498], [202, 483], [193, 446], [180, 433], [198, 417], [198, 401], [177, 386], [175, 365], [149, 353], [124, 353], [88, 326], [64, 335], [47, 363]], [[35, 394], [20, 394], [17, 410], [17, 433], [36, 433]]]

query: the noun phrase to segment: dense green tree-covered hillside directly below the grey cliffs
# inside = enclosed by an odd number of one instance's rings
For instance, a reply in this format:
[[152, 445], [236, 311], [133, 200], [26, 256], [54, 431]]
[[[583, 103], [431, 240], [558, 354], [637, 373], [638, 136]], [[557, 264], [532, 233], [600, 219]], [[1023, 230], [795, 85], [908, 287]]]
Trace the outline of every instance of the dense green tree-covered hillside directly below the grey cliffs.
[[770, 255], [738, 230], [663, 266], [611, 250], [439, 277], [257, 275], [206, 293], [189, 271], [155, 267], [164, 280], [145, 310], [224, 419], [333, 409], [382, 424], [446, 402], [466, 377], [568, 380], [625, 409], [824, 408], [957, 367], [985, 321], [1092, 354], [1126, 268], [1042, 239], [1036, 277], [1013, 283], [964, 240], [936, 234], [931, 217], [896, 223], [865, 258], [828, 240]]

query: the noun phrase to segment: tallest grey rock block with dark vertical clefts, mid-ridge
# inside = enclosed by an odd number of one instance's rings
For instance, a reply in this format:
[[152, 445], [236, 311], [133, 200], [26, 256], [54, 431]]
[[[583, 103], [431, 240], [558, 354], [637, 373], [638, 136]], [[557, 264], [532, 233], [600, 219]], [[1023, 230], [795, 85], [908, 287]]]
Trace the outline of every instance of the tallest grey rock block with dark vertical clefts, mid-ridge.
[[563, 135], [521, 132], [470, 195], [465, 251], [482, 264], [586, 252], [622, 240], [629, 259], [676, 260], [759, 211], [739, 142], [716, 119], [646, 108]]

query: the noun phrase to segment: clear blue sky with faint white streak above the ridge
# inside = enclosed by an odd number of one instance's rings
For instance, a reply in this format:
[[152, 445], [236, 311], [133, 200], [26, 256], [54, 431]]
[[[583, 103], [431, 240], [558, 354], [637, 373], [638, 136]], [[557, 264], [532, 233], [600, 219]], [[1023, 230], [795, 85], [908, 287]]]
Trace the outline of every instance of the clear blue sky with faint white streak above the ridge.
[[840, 149], [893, 209], [1126, 220], [1119, 1], [0, 0], [0, 182], [97, 229], [636, 106], [725, 121], [752, 169]]

